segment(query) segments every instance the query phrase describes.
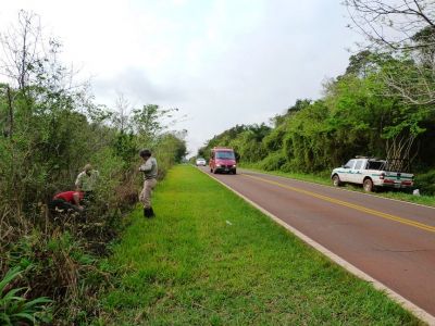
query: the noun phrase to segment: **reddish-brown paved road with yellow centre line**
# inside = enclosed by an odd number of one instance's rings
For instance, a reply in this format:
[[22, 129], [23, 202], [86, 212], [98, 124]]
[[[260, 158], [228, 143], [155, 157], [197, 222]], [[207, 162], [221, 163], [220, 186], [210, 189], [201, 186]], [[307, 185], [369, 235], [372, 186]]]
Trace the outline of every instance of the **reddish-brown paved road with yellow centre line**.
[[435, 316], [435, 209], [248, 171], [213, 176]]

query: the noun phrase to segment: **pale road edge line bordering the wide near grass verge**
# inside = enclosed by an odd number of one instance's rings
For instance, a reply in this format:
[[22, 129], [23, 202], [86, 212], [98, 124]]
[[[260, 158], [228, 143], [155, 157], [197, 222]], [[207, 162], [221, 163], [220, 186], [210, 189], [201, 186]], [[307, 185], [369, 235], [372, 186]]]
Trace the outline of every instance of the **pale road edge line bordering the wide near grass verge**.
[[415, 305], [414, 303], [412, 303], [408, 299], [403, 298], [402, 296], [400, 296], [396, 291], [394, 291], [390, 288], [388, 288], [386, 285], [384, 285], [381, 281], [378, 281], [378, 280], [374, 279], [373, 277], [371, 277], [370, 275], [365, 274], [360, 268], [353, 266], [351, 263], [349, 263], [349, 262], [345, 261], [344, 259], [341, 259], [340, 256], [336, 255], [334, 252], [330, 251], [328, 249], [326, 249], [325, 247], [323, 247], [319, 242], [314, 241], [313, 239], [309, 238], [308, 236], [306, 236], [301, 231], [297, 230], [296, 228], [294, 228], [289, 224], [285, 223], [284, 221], [282, 221], [281, 218], [278, 218], [274, 214], [270, 213], [269, 211], [266, 211], [265, 209], [263, 209], [262, 206], [260, 206], [256, 202], [251, 201], [250, 199], [248, 199], [247, 197], [245, 197], [244, 195], [241, 195], [237, 190], [231, 188], [228, 185], [224, 184], [220, 179], [215, 178], [214, 176], [210, 175], [209, 173], [207, 173], [206, 171], [203, 171], [201, 168], [198, 168], [198, 170], [201, 171], [202, 173], [204, 173], [206, 175], [208, 175], [210, 178], [212, 178], [212, 179], [216, 180], [217, 183], [220, 183], [225, 188], [227, 188], [231, 191], [233, 191], [234, 193], [236, 193], [238, 197], [240, 197], [246, 202], [248, 202], [249, 204], [254, 206], [257, 210], [262, 212], [264, 215], [268, 215], [269, 217], [271, 217], [275, 223], [279, 224], [281, 226], [283, 226], [284, 228], [286, 228], [287, 230], [293, 233], [299, 239], [301, 239], [302, 241], [304, 241], [306, 243], [308, 243], [309, 246], [311, 246], [315, 250], [318, 250], [321, 253], [323, 253], [324, 255], [326, 255], [330, 260], [332, 260], [336, 264], [340, 265], [341, 267], [344, 267], [349, 273], [353, 274], [355, 276], [357, 276], [357, 277], [365, 280], [365, 281], [371, 283], [376, 290], [384, 291], [390, 299], [393, 299], [394, 301], [399, 303], [406, 310], [408, 310], [411, 313], [413, 313], [417, 317], [419, 317], [424, 323], [427, 323], [431, 326], [435, 325], [435, 316], [431, 315], [425, 310], [423, 310], [420, 306]]

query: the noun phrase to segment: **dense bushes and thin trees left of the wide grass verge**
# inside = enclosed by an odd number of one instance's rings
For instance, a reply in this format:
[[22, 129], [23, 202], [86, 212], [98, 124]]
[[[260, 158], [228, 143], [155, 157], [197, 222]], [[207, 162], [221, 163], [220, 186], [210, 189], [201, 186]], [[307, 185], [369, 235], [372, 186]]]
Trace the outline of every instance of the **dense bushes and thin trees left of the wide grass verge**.
[[[132, 115], [125, 105], [97, 105], [51, 57], [59, 43], [38, 45], [37, 17], [20, 17], [24, 29], [13, 42], [2, 39], [3, 51], [21, 60], [1, 71], [10, 78], [0, 85], [0, 279], [21, 267], [14, 286], [28, 288], [29, 299], [54, 300], [54, 321], [73, 324], [98, 313], [95, 292], [108, 277], [98, 259], [137, 200], [139, 149], [151, 149], [163, 177], [185, 155], [185, 135], [167, 130], [162, 121], [171, 110], [159, 105]], [[99, 171], [94, 202], [82, 214], [50, 213], [53, 195], [74, 190], [86, 163]], [[16, 315], [5, 313], [3, 319]]]

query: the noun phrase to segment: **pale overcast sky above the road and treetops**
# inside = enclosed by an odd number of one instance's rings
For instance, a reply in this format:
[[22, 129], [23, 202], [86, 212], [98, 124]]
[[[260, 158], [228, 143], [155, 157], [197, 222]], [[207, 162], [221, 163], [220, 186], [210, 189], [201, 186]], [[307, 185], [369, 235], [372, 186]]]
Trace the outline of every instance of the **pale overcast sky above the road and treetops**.
[[316, 99], [341, 74], [358, 35], [340, 0], [14, 0], [63, 42], [62, 60], [91, 77], [96, 100], [114, 106], [178, 108], [190, 154], [236, 124], [268, 122], [296, 99]]

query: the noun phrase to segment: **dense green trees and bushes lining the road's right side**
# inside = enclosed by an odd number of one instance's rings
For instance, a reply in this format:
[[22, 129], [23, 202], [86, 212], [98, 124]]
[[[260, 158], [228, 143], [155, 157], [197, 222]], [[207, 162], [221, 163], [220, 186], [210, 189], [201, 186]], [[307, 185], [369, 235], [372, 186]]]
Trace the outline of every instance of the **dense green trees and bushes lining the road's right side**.
[[384, 78], [391, 74], [413, 78], [418, 70], [419, 63], [406, 53], [362, 51], [350, 58], [344, 75], [324, 85], [322, 99], [298, 100], [271, 120], [273, 127], [241, 125], [225, 130], [198, 155], [208, 158], [211, 148], [226, 146], [237, 151], [241, 163], [303, 173], [328, 171], [355, 155], [399, 159], [395, 168], [420, 174], [419, 187], [434, 193], [430, 171], [435, 167], [435, 109], [402, 101], [391, 95]]

